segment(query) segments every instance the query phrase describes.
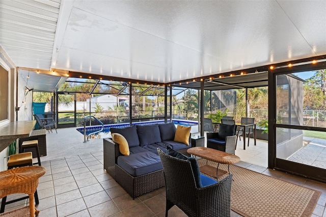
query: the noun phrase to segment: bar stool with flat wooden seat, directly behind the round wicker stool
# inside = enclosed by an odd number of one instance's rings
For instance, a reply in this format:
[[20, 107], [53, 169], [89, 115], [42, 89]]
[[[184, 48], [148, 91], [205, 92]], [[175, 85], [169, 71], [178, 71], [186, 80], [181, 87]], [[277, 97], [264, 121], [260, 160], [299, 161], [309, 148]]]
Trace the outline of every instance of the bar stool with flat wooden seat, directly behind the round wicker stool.
[[[18, 167], [24, 167], [24, 166], [33, 166], [32, 152], [24, 152], [24, 153], [10, 155], [7, 166], [8, 166], [8, 170], [10, 170], [12, 168], [18, 168]], [[35, 197], [35, 203], [39, 204], [39, 197], [38, 197], [37, 191], [35, 191], [34, 197]], [[28, 198], [29, 198], [29, 196], [25, 196], [25, 197], [18, 198], [18, 199], [11, 200], [11, 201], [7, 202], [7, 196], [3, 197], [2, 202], [1, 202], [1, 207], [0, 207], [0, 213], [3, 213], [5, 211], [5, 207], [7, 204], [15, 203], [17, 201], [25, 200]]]

